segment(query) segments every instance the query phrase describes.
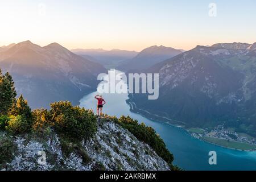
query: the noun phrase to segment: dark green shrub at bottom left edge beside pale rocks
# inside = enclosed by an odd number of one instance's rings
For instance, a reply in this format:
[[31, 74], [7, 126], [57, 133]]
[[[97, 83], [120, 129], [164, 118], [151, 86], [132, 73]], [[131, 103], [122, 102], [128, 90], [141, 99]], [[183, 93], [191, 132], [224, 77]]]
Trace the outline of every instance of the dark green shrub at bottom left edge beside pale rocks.
[[0, 167], [6, 162], [10, 162], [13, 159], [13, 152], [15, 151], [15, 145], [13, 141], [8, 138], [0, 138]]

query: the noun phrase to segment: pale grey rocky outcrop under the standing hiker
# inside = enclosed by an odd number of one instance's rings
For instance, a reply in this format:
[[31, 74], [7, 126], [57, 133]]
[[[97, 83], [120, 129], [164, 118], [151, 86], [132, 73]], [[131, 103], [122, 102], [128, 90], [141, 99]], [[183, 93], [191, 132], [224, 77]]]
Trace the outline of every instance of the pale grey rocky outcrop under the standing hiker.
[[[0, 139], [6, 137], [5, 133], [0, 135]], [[0, 167], [2, 170], [170, 170], [148, 144], [106, 119], [98, 119], [98, 130], [92, 139], [66, 144], [73, 147], [68, 155], [62, 140], [53, 131], [45, 138], [11, 137], [15, 145], [11, 151], [13, 159]]]

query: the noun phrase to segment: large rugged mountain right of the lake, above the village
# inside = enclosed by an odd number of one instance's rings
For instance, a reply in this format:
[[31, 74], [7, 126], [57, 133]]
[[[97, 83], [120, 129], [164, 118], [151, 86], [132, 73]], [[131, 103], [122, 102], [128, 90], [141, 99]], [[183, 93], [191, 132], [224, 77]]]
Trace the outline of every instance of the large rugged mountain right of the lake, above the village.
[[224, 123], [255, 136], [256, 43], [197, 46], [143, 72], [159, 73], [159, 98], [130, 94], [133, 110], [191, 127]]

